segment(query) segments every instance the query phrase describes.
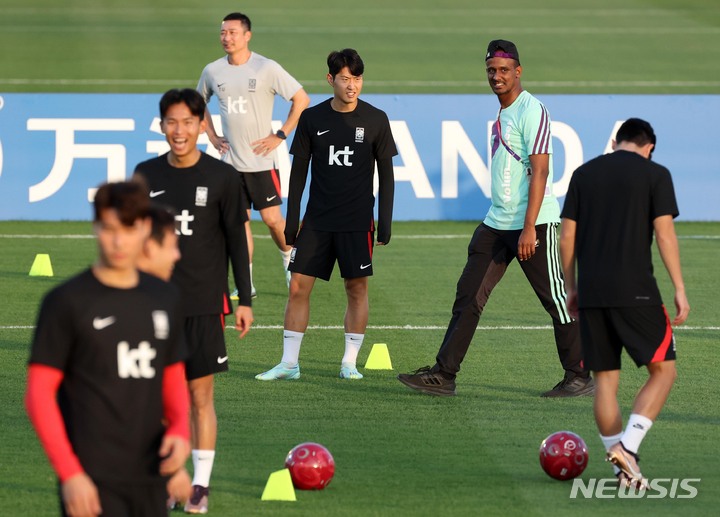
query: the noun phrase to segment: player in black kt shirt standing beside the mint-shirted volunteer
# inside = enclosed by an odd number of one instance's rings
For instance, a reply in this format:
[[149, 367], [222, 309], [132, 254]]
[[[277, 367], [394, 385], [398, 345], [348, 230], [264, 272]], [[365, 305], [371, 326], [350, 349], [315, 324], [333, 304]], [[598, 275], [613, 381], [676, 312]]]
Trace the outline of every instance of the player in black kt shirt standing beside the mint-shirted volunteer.
[[[368, 277], [372, 275], [375, 232], [373, 176], [379, 179], [378, 246], [390, 242], [397, 154], [387, 115], [360, 100], [364, 64], [353, 49], [328, 56], [327, 81], [333, 98], [303, 112], [290, 152], [285, 239], [294, 244], [290, 293], [285, 308], [283, 356], [255, 378], [300, 377], [298, 357], [310, 316], [315, 279], [330, 280], [337, 261], [345, 282], [345, 355], [341, 379], [362, 379], [356, 362], [367, 327]], [[300, 201], [312, 161], [310, 198], [300, 229]], [[298, 233], [298, 229], [299, 233]]]

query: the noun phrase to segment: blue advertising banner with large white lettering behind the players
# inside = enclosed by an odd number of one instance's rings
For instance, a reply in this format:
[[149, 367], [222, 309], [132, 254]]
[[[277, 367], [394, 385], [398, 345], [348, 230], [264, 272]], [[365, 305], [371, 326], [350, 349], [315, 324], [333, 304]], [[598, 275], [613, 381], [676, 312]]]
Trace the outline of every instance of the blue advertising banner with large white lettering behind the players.
[[[577, 166], [610, 151], [628, 117], [648, 120], [653, 159], [670, 169], [683, 220], [720, 220], [720, 146], [711, 114], [720, 95], [543, 95], [553, 120], [560, 198]], [[312, 95], [312, 104], [328, 95]], [[103, 181], [129, 177], [135, 164], [167, 151], [157, 94], [0, 95], [0, 220], [87, 220]], [[390, 118], [396, 220], [481, 220], [489, 207], [493, 95], [364, 95]], [[217, 106], [210, 104], [217, 113]], [[278, 98], [274, 126], [289, 104]], [[217, 128], [219, 116], [215, 115]], [[290, 136], [292, 139], [292, 135]], [[217, 153], [203, 135], [200, 147]], [[283, 195], [291, 157], [277, 151]]]

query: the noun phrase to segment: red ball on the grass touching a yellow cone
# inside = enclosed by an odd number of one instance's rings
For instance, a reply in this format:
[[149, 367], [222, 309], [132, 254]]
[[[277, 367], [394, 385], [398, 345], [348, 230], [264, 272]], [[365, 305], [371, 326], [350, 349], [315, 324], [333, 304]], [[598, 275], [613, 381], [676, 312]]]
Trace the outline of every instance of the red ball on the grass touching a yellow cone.
[[322, 490], [335, 475], [335, 460], [319, 443], [296, 445], [285, 458], [285, 467], [300, 490]]

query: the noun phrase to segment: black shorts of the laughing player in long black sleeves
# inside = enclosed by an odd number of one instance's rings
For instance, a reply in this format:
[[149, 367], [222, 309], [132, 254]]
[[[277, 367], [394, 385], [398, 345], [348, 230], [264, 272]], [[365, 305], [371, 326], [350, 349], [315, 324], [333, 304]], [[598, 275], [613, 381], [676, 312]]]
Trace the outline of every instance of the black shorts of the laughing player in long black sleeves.
[[185, 361], [187, 380], [228, 370], [223, 315], [188, 316], [185, 318], [185, 339], [190, 350]]

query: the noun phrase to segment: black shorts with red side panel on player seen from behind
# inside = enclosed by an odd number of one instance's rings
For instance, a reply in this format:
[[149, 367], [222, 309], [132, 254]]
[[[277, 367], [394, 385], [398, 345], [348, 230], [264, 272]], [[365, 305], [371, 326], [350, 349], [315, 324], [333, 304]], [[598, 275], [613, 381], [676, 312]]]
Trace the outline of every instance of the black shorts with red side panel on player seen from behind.
[[619, 370], [624, 348], [635, 364], [675, 360], [675, 336], [662, 305], [580, 309], [585, 367]]

